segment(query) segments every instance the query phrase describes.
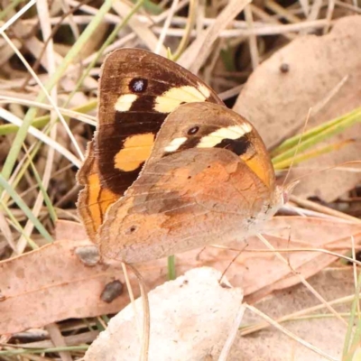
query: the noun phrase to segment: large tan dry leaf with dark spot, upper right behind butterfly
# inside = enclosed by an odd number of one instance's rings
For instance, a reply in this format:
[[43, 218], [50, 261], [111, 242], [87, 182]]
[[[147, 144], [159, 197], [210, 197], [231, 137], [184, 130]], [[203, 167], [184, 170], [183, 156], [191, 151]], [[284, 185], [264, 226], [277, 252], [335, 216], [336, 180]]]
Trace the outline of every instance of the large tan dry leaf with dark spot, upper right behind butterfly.
[[[344, 17], [324, 36], [306, 35], [292, 41], [265, 60], [248, 79], [234, 110], [247, 117], [267, 146], [301, 132], [310, 107], [317, 107], [338, 88], [309, 126], [319, 125], [361, 106], [361, 16]], [[289, 71], [282, 72], [282, 64]], [[329, 142], [354, 139], [361, 125], [355, 125]], [[361, 142], [350, 143], [337, 152], [324, 154], [302, 167], [324, 169], [330, 165], [359, 160]], [[317, 195], [337, 199], [361, 180], [359, 173], [324, 171], [302, 179], [295, 190], [305, 197]]]

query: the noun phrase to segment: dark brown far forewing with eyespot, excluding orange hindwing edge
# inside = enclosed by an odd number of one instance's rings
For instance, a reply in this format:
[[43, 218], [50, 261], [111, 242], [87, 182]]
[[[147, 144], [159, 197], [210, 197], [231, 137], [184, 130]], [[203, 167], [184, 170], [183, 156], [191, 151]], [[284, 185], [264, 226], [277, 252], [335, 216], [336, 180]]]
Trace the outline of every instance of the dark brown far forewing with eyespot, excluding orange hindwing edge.
[[[160, 110], [172, 110], [172, 106], [167, 108], [170, 103], [176, 107], [177, 103], [192, 100], [192, 88], [199, 87], [206, 89], [208, 97], [205, 101], [222, 104], [213, 90], [188, 70], [149, 51], [121, 49], [106, 58], [99, 88], [95, 150], [102, 186], [116, 194], [124, 194], [150, 155], [153, 143], [149, 142], [149, 134], [154, 134], [154, 139], [168, 115]], [[176, 89], [181, 89], [180, 93]], [[143, 160], [138, 159], [138, 164], [133, 162], [132, 166], [127, 166], [129, 152], [122, 163], [122, 150], [126, 148], [127, 140], [139, 134], [146, 134]], [[138, 137], [137, 143], [142, 146], [142, 137]], [[139, 148], [135, 149], [134, 156], [139, 151]], [[115, 167], [118, 153], [118, 167]]]

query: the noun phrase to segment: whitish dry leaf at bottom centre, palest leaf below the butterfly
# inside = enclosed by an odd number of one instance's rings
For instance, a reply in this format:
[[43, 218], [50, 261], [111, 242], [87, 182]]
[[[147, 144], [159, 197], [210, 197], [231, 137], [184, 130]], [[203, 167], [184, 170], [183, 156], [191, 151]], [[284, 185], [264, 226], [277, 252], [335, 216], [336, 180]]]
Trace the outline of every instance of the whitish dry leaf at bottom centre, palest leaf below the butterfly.
[[[212, 268], [197, 268], [149, 292], [149, 361], [217, 359], [243, 299], [242, 290], [231, 288], [226, 279], [227, 286], [219, 284], [220, 276]], [[134, 303], [142, 319], [142, 300]], [[129, 305], [110, 320], [84, 359], [133, 361], [139, 358], [141, 342]]]

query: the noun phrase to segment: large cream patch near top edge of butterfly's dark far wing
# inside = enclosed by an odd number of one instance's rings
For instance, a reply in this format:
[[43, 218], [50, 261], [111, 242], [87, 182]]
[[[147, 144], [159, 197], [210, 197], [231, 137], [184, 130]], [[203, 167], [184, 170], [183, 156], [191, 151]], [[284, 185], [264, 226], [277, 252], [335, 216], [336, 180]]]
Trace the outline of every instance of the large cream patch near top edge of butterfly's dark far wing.
[[171, 113], [180, 103], [202, 102], [207, 99], [208, 88], [199, 85], [194, 88], [189, 85], [180, 88], [171, 88], [162, 96], [155, 98], [154, 110], [160, 113]]

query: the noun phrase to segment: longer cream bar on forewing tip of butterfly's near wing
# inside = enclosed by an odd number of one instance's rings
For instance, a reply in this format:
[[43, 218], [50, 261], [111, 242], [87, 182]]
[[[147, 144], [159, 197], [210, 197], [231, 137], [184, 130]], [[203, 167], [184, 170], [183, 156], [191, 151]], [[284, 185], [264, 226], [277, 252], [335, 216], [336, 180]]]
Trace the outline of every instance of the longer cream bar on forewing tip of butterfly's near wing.
[[203, 136], [200, 139], [197, 148], [213, 148], [218, 143], [221, 143], [223, 139], [238, 139], [251, 131], [252, 126], [246, 123], [243, 125], [227, 126], [227, 128], [221, 128]]

